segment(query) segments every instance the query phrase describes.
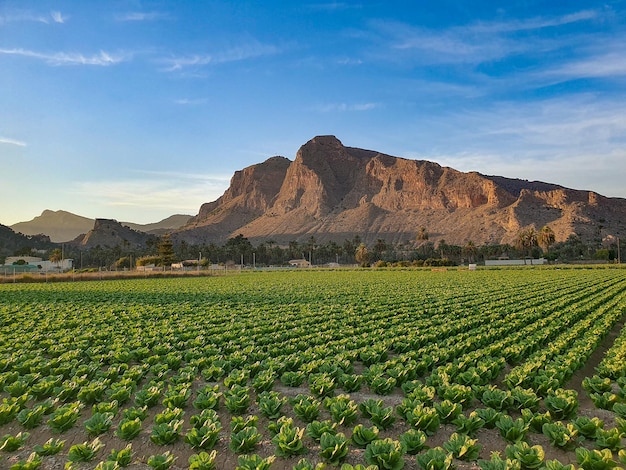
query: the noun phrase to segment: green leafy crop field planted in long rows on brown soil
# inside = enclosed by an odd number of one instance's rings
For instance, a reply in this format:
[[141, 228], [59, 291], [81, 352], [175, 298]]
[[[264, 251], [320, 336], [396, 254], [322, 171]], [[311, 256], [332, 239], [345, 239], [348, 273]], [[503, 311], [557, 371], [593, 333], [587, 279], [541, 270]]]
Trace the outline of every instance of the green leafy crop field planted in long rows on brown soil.
[[626, 271], [0, 285], [2, 469], [626, 466]]

